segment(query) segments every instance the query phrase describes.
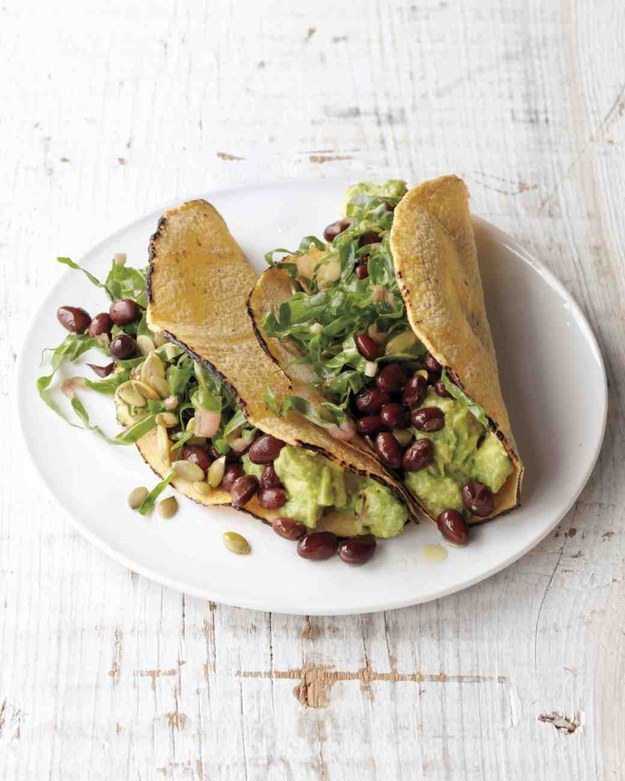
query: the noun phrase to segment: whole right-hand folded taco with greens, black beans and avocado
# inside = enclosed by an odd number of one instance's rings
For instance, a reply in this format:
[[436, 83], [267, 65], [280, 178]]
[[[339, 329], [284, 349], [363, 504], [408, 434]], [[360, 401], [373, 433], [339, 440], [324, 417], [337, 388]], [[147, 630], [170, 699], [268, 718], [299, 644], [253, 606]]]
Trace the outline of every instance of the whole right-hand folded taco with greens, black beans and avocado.
[[[520, 500], [463, 182], [364, 183], [324, 241], [268, 253], [248, 311], [267, 353], [455, 542]], [[288, 406], [288, 403], [287, 403]]]

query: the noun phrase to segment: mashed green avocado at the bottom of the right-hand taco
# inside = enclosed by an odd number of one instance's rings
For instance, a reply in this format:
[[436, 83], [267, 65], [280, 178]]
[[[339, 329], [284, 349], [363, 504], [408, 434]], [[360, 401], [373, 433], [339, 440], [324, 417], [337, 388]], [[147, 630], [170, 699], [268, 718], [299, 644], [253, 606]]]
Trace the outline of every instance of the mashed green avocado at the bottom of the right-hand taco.
[[445, 413], [440, 431], [416, 431], [417, 439], [434, 443], [434, 460], [418, 472], [406, 475], [406, 484], [434, 515], [447, 508], [462, 511], [462, 486], [479, 480], [497, 493], [512, 472], [512, 462], [497, 436], [471, 413], [462, 401], [441, 398], [428, 390], [423, 407]]

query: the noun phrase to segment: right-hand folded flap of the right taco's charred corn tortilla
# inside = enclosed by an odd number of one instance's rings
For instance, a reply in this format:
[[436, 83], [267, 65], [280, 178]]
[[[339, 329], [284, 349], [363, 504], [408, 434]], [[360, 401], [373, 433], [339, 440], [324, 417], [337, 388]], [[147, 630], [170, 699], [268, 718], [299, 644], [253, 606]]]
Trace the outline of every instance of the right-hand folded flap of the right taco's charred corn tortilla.
[[409, 190], [395, 209], [390, 246], [413, 331], [453, 382], [484, 409], [512, 461], [513, 471], [488, 516], [494, 518], [519, 505], [523, 465], [499, 385], [462, 180], [443, 176]]

